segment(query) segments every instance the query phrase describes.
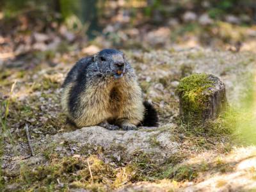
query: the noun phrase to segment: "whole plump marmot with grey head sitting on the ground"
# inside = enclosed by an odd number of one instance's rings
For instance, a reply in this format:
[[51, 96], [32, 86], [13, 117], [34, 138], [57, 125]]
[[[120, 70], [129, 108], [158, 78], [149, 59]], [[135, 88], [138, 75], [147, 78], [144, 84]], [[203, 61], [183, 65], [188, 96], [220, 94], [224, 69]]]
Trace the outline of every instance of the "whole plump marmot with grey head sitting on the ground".
[[124, 53], [103, 49], [79, 60], [62, 85], [61, 105], [77, 127], [106, 129], [157, 126], [157, 112], [147, 101]]

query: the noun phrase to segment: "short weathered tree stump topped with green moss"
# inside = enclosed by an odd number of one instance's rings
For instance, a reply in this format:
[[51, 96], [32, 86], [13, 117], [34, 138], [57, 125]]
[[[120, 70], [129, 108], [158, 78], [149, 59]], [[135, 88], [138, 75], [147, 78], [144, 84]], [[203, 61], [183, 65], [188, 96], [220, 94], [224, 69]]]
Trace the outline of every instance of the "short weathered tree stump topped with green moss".
[[177, 88], [180, 117], [184, 122], [205, 122], [227, 107], [225, 84], [211, 74], [192, 74]]

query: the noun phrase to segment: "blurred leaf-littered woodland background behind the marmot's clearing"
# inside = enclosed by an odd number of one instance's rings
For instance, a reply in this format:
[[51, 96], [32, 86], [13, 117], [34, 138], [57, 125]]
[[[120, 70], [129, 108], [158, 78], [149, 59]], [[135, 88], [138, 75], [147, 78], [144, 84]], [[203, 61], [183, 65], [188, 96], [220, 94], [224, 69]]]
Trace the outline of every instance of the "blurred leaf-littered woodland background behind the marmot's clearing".
[[253, 49], [256, 36], [253, 0], [2, 0], [0, 18], [2, 35], [15, 29], [16, 34], [49, 33], [65, 25], [72, 35], [96, 40], [100, 47], [185, 44], [236, 50], [250, 42]]

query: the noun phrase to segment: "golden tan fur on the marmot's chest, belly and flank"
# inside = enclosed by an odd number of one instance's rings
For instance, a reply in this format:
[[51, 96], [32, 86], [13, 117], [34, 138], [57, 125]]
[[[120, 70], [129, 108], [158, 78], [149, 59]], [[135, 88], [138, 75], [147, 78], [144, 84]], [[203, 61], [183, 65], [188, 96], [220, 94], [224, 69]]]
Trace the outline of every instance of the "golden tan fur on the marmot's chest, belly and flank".
[[[68, 94], [72, 83], [63, 90], [61, 104], [68, 115]], [[99, 84], [88, 84], [80, 96], [79, 118], [68, 115], [77, 127], [98, 125], [101, 122], [115, 122], [117, 125], [138, 125], [143, 120], [145, 108], [141, 88], [135, 78], [125, 77]]]

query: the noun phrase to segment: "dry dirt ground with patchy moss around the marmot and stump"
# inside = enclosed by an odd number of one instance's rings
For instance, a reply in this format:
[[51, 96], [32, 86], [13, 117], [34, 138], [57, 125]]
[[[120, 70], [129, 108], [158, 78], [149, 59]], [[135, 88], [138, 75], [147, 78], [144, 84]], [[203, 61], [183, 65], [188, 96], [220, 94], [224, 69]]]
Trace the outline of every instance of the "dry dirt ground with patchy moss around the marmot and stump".
[[[65, 124], [61, 83], [83, 52], [40, 52], [21, 63], [2, 63], [3, 190], [256, 190], [255, 54], [202, 48], [125, 54], [145, 98], [156, 106], [159, 127], [108, 131]], [[45, 59], [49, 57], [51, 62]], [[205, 127], [179, 120], [175, 89], [182, 77], [194, 72], [220, 77], [231, 108]]]

